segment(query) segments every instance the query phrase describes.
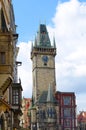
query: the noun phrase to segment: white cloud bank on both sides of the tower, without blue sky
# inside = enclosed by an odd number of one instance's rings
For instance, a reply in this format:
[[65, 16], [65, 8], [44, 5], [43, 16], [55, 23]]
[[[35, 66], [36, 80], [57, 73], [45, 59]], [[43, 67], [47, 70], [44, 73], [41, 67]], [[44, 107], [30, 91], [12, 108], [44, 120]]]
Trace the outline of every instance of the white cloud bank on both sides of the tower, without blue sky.
[[[55, 35], [57, 44], [57, 90], [75, 92], [79, 107], [82, 105], [79, 99], [86, 91], [86, 3], [78, 0], [58, 3], [52, 22], [54, 27], [47, 27], [51, 41]], [[20, 43], [19, 46], [23, 62], [19, 74], [24, 95], [29, 97], [32, 89], [30, 43]]]

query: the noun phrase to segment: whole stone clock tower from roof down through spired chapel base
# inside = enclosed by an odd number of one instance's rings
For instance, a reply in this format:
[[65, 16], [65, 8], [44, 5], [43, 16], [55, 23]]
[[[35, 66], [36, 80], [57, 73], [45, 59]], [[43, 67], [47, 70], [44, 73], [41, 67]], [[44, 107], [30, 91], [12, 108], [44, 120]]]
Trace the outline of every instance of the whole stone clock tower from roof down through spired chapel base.
[[60, 130], [59, 106], [54, 97], [55, 56], [55, 40], [51, 45], [46, 25], [40, 24], [31, 50], [33, 74], [31, 130]]

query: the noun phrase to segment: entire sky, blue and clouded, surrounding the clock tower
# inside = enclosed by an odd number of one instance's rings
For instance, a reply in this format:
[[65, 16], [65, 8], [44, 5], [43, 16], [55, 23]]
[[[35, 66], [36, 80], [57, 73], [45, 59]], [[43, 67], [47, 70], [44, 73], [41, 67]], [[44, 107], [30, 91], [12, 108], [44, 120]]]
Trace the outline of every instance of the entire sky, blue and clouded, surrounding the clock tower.
[[55, 36], [56, 88], [75, 92], [78, 111], [86, 110], [86, 0], [13, 0], [19, 34], [19, 77], [23, 96], [32, 95], [31, 42], [40, 23], [46, 23], [50, 40]]

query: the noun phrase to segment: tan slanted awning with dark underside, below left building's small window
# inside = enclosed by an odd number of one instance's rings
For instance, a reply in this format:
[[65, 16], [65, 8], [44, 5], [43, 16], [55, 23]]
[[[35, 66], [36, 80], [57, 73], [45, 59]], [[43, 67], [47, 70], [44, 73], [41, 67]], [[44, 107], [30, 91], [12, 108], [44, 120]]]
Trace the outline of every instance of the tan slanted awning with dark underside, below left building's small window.
[[0, 74], [0, 89], [4, 92], [12, 82], [12, 77], [9, 74]]

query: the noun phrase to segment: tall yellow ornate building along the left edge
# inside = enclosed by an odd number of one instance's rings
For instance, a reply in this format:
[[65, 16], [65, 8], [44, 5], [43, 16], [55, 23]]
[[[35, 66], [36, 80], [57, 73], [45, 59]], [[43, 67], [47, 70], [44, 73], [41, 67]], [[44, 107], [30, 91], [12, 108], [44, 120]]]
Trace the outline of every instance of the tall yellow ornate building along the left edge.
[[17, 79], [15, 18], [11, 0], [0, 0], [0, 129], [19, 128], [21, 115], [21, 81]]

